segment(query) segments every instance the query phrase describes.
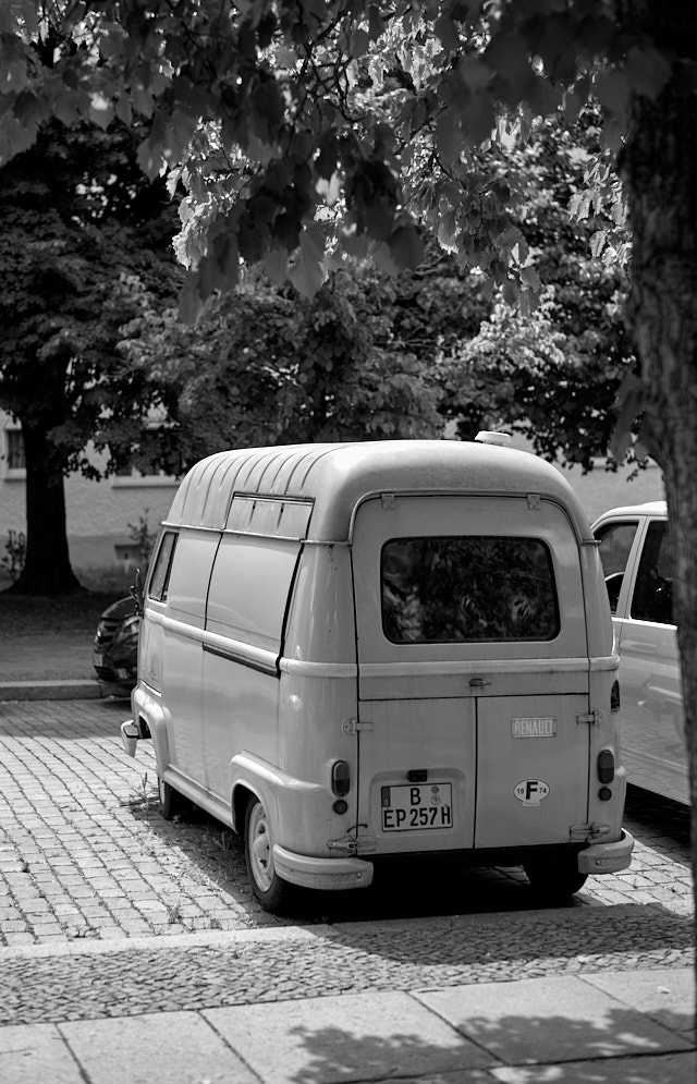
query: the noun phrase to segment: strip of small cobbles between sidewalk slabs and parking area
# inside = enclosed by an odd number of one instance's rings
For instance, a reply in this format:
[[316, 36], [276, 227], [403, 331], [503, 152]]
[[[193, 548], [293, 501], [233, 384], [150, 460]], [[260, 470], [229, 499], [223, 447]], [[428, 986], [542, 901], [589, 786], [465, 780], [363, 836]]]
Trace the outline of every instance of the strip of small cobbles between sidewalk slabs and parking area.
[[264, 934], [8, 949], [0, 1026], [200, 1011], [366, 991], [443, 989], [694, 963], [692, 928], [660, 906], [339, 923]]

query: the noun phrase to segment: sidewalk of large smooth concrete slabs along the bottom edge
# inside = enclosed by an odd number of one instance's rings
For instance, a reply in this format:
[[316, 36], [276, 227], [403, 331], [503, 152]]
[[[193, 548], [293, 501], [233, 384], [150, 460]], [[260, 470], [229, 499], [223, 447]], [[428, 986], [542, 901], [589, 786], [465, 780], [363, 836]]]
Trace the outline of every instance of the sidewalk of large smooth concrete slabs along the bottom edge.
[[[163, 982], [175, 982], [175, 972]], [[658, 975], [658, 978], [657, 978]], [[671, 972], [693, 1001], [690, 969]], [[694, 1084], [663, 972], [369, 991], [0, 1027], [3, 1084]], [[670, 1010], [664, 1010], [669, 1012]], [[140, 1014], [138, 1014], [140, 1013]], [[676, 1018], [682, 1014], [677, 1013]], [[677, 1020], [678, 1028], [682, 1023]]]

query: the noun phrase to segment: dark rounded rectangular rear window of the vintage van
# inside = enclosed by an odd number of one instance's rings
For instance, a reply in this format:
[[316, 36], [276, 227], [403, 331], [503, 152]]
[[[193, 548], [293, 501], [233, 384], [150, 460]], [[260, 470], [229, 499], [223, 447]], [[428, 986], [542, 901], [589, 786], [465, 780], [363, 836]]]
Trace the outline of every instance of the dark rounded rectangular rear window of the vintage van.
[[382, 547], [382, 629], [393, 644], [553, 640], [559, 607], [537, 538], [392, 538]]

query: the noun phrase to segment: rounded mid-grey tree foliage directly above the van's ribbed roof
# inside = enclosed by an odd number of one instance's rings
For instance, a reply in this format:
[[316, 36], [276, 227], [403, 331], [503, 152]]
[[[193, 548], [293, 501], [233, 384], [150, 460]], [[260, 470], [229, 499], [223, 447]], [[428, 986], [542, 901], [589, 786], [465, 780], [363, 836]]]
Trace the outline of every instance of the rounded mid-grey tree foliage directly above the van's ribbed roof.
[[367, 296], [347, 273], [311, 301], [255, 277], [196, 328], [144, 307], [121, 351], [170, 386], [178, 465], [233, 446], [437, 435], [423, 360], [387, 343], [380, 295]]

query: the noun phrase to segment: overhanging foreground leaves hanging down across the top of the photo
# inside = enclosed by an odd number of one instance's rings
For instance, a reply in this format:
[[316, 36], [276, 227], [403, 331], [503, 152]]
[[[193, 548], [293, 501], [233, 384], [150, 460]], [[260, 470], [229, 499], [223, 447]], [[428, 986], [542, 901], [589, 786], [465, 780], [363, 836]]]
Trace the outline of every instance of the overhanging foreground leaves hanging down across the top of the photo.
[[[615, 150], [629, 96], [656, 96], [671, 62], [607, 0], [12, 0], [0, 29], [0, 158], [52, 117], [147, 119], [142, 168], [188, 188], [189, 315], [239, 281], [241, 260], [305, 295], [345, 254], [414, 268], [414, 216], [506, 296], [531, 297], [522, 194], [499, 153], [590, 94]], [[576, 210], [591, 205], [611, 212], [600, 251], [622, 217], [607, 161]]]

